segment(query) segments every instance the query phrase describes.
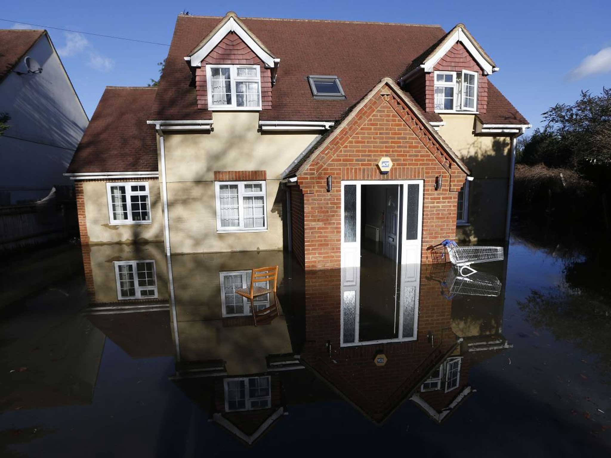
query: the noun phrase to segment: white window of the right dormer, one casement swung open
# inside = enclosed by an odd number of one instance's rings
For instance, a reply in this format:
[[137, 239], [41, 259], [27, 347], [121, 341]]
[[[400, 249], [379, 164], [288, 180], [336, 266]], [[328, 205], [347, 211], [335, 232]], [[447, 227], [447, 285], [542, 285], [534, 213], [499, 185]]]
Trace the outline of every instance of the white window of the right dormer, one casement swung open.
[[476, 111], [477, 73], [436, 71], [434, 81], [436, 112]]

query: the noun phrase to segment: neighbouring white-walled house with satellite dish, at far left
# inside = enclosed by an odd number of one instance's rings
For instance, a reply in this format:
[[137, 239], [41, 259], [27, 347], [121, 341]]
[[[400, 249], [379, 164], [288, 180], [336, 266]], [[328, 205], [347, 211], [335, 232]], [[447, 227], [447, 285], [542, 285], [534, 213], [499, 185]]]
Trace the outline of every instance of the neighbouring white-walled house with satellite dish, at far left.
[[0, 206], [71, 186], [63, 174], [89, 119], [45, 30], [0, 30]]

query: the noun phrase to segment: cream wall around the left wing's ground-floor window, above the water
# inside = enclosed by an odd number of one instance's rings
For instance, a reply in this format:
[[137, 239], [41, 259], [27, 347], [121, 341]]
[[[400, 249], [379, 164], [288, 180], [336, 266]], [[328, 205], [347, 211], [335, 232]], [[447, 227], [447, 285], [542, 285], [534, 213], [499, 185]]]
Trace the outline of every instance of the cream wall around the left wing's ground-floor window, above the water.
[[[128, 181], [128, 180], [126, 180]], [[163, 214], [159, 182], [148, 181], [151, 204], [150, 224], [111, 225], [108, 213], [106, 182], [85, 181], [82, 184], [85, 216], [90, 244], [117, 242], [163, 242]]]

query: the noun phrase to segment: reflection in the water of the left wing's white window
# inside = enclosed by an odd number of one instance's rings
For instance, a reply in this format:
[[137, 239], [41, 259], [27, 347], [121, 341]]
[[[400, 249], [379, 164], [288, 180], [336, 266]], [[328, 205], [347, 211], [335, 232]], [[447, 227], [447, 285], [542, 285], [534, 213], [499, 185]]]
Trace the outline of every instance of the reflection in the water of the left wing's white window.
[[119, 300], [157, 297], [155, 261], [115, 261], [114, 267]]

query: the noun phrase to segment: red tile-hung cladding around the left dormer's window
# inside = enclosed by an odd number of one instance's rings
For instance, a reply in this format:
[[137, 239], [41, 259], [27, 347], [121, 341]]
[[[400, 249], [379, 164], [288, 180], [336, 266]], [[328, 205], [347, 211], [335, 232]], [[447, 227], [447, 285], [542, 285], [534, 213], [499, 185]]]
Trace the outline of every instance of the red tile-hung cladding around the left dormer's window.
[[202, 110], [208, 109], [206, 64], [259, 65], [261, 67], [261, 106], [264, 110], [271, 109], [271, 69], [265, 68], [263, 61], [237, 34], [229, 32], [225, 35], [216, 48], [202, 60], [202, 67], [196, 68], [197, 107]]

